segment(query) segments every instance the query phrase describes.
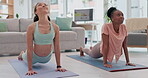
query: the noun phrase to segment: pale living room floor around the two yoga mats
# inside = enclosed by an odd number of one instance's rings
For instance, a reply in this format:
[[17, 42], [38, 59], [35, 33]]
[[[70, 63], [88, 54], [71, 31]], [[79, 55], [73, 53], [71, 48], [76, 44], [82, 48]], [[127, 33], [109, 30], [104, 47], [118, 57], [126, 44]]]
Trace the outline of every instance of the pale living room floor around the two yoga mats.
[[[97, 67], [85, 64], [83, 62], [71, 59], [66, 55], [76, 55], [79, 52], [66, 52], [61, 53], [62, 66], [67, 70], [79, 74], [79, 76], [69, 78], [148, 78], [148, 69], [131, 70], [121, 72], [108, 72]], [[148, 66], [148, 53], [147, 52], [129, 52], [130, 60], [133, 63]], [[13, 67], [8, 63], [8, 59], [15, 59], [17, 56], [3, 56], [0, 57], [0, 78], [19, 78]], [[125, 60], [124, 55], [121, 60]], [[51, 59], [55, 63], [54, 54]]]

